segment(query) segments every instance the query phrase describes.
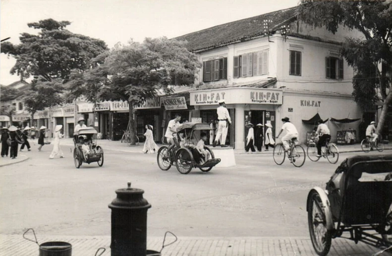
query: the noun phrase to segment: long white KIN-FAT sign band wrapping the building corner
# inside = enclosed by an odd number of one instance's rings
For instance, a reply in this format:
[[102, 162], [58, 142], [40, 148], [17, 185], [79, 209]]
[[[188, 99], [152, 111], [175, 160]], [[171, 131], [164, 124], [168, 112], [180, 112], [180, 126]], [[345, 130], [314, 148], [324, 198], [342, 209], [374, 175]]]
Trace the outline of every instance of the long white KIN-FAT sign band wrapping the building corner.
[[223, 99], [226, 104], [282, 104], [282, 91], [259, 88], [225, 88], [190, 92], [190, 105], [216, 105]]

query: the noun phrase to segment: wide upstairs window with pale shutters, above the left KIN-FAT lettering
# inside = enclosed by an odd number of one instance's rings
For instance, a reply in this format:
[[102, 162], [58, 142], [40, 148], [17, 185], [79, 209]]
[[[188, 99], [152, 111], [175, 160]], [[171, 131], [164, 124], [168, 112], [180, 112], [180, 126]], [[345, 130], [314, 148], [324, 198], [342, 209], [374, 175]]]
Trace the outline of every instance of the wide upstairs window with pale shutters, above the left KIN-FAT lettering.
[[233, 76], [245, 77], [268, 74], [268, 50], [235, 56]]

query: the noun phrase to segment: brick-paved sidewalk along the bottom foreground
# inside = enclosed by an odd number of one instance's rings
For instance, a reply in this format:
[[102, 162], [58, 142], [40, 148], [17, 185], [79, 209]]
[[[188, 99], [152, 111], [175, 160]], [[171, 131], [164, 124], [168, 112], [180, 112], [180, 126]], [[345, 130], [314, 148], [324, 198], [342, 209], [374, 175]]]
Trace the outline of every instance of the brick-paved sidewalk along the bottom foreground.
[[[31, 234], [30, 234], [31, 235]], [[164, 234], [163, 234], [164, 235]], [[34, 240], [34, 236], [30, 237]], [[110, 236], [71, 237], [52, 236], [42, 237], [37, 234], [38, 243], [48, 241], [63, 241], [72, 245], [73, 256], [94, 256], [98, 248], [104, 247], [102, 256], [111, 255]], [[168, 235], [166, 243], [174, 241]], [[147, 249], [160, 251], [162, 237], [148, 237]], [[381, 251], [347, 239], [336, 238], [328, 256], [371, 256]], [[0, 256], [31, 256], [38, 255], [37, 244], [22, 238], [20, 235], [0, 235]], [[309, 237], [269, 238], [269, 237], [179, 237], [174, 244], [165, 247], [162, 256], [314, 256], [312, 242]], [[391, 256], [383, 253], [380, 256]]]

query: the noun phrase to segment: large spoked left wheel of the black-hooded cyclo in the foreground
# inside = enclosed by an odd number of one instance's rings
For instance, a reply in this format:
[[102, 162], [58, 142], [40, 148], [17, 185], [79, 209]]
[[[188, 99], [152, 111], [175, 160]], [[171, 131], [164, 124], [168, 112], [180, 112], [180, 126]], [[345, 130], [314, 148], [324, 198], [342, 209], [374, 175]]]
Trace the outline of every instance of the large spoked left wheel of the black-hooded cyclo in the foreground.
[[326, 256], [331, 249], [332, 231], [327, 230], [327, 217], [318, 192], [312, 191], [308, 201], [309, 233], [313, 248], [320, 256]]

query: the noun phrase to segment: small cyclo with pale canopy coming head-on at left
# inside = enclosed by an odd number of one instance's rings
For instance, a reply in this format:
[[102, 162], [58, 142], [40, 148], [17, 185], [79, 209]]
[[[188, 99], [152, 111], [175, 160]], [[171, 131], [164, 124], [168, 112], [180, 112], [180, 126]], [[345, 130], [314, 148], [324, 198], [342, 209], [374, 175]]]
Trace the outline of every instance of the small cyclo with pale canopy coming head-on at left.
[[99, 166], [104, 164], [104, 150], [101, 146], [97, 146], [94, 138], [94, 134], [97, 133], [95, 128], [88, 127], [81, 128], [74, 135], [73, 161], [76, 168], [79, 168], [82, 163], [97, 162]]

